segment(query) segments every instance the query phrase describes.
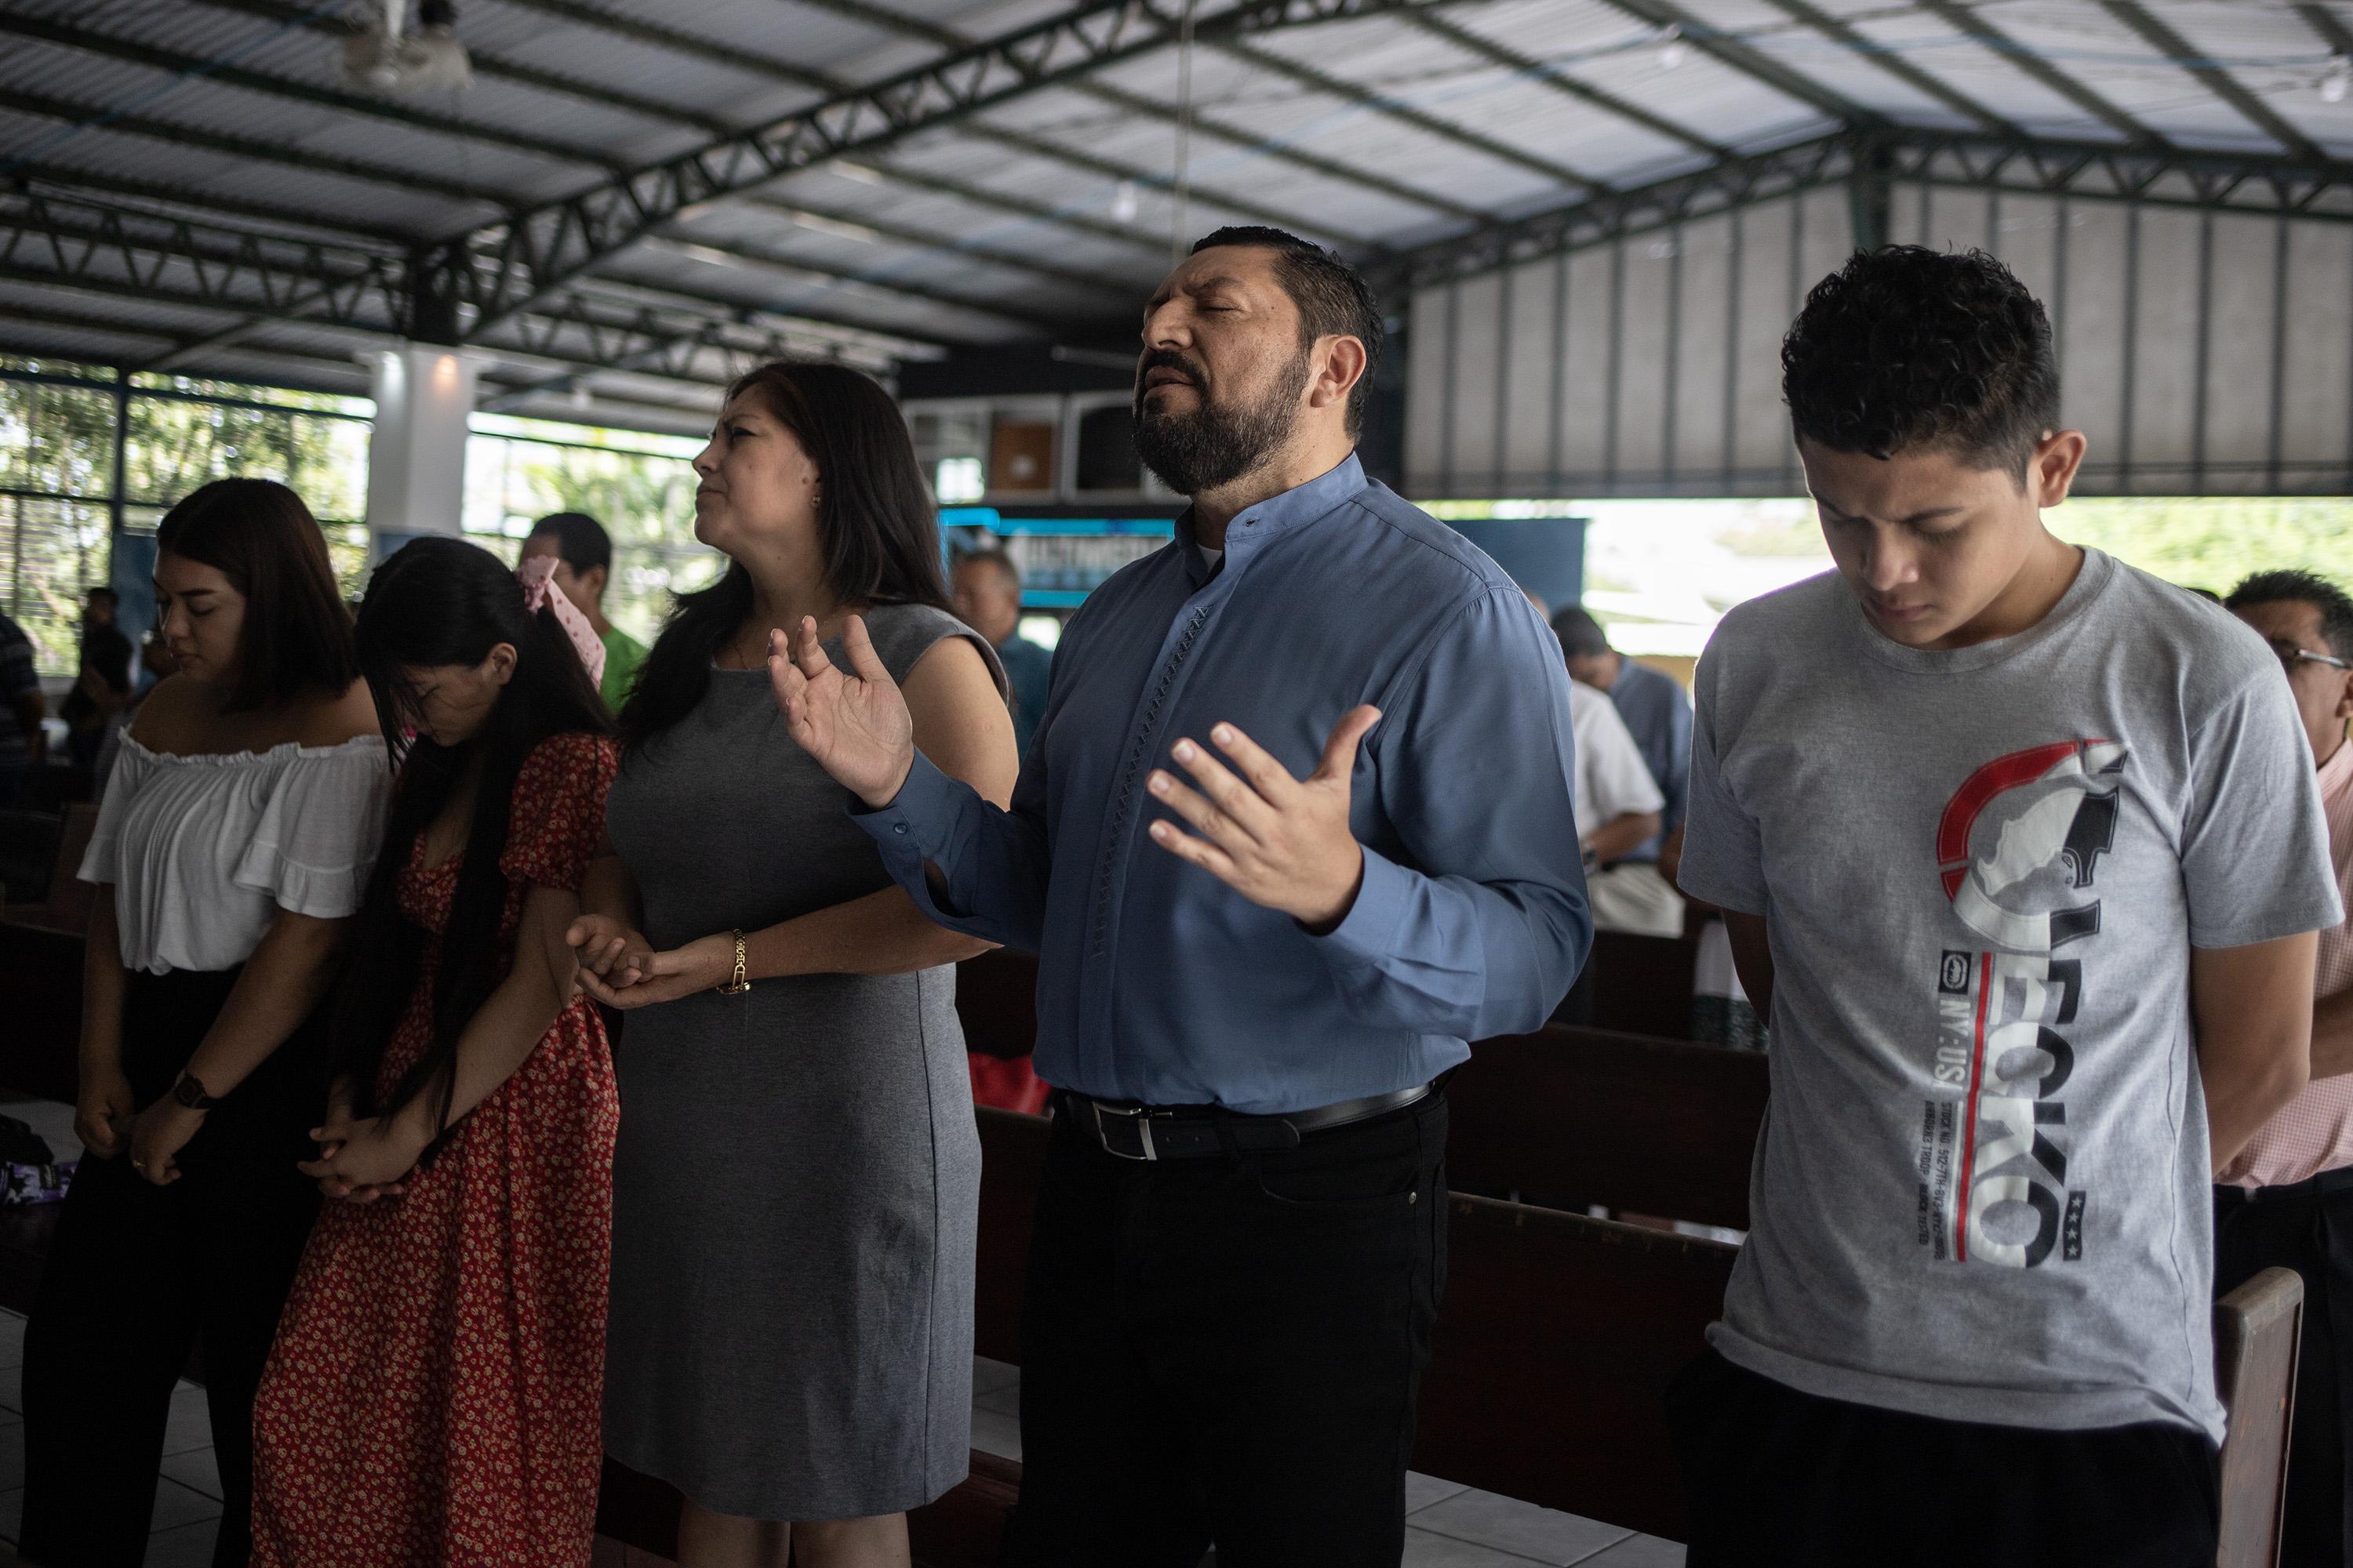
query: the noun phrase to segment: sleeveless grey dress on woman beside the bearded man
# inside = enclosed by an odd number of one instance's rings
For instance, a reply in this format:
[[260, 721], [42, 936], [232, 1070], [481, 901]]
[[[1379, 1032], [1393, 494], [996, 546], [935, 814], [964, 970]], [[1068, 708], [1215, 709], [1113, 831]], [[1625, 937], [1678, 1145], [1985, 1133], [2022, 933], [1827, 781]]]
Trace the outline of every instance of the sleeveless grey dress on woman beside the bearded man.
[[[894, 679], [946, 611], [866, 618]], [[826, 644], [847, 668], [840, 644]], [[713, 670], [605, 823], [654, 947], [892, 886], [765, 670]], [[800, 976], [628, 1016], [605, 1450], [751, 1519], [896, 1514], [965, 1479], [981, 1145], [955, 971]]]

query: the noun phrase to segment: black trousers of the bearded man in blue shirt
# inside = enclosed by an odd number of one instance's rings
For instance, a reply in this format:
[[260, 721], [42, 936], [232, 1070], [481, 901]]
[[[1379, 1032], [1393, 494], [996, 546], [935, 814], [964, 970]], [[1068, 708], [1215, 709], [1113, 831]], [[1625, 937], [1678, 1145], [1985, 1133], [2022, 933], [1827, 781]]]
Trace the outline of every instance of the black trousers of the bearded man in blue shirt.
[[1019, 1568], [1393, 1568], [1445, 1284], [1440, 1093], [1136, 1164], [1056, 1117], [1021, 1316]]

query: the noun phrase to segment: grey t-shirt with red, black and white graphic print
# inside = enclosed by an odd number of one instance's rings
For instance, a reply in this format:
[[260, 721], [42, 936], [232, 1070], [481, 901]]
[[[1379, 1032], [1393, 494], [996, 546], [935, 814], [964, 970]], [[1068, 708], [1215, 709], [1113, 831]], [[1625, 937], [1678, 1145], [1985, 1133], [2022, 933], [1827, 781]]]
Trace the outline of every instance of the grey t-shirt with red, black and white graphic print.
[[1772, 1105], [1711, 1342], [1777, 1382], [2221, 1441], [2191, 947], [2341, 919], [2278, 658], [2099, 550], [1887, 642], [1826, 574], [1699, 661], [1682, 886], [1765, 914]]

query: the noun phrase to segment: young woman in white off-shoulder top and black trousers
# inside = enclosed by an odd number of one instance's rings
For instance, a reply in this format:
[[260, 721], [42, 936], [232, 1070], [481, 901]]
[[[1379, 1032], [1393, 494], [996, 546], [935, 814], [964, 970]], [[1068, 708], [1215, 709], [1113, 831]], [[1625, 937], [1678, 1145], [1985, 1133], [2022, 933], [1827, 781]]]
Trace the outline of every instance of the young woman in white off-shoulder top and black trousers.
[[202, 1349], [216, 1568], [245, 1563], [252, 1401], [318, 1213], [320, 1001], [391, 766], [301, 498], [221, 480], [158, 536], [179, 675], [141, 703], [82, 879], [87, 1145], [26, 1328], [19, 1552], [139, 1563], [172, 1385]]

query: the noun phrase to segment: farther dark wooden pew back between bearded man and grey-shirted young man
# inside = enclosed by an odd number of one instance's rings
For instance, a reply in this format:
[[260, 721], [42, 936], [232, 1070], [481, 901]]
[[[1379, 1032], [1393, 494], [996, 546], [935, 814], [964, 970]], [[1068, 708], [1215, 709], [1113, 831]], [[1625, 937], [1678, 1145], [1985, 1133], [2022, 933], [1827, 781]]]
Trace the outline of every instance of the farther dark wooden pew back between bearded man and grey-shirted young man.
[[1447, 1180], [1581, 1213], [1748, 1229], [1765, 1058], [1682, 1039], [1551, 1027], [1471, 1046], [1447, 1079]]

